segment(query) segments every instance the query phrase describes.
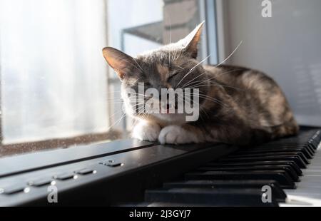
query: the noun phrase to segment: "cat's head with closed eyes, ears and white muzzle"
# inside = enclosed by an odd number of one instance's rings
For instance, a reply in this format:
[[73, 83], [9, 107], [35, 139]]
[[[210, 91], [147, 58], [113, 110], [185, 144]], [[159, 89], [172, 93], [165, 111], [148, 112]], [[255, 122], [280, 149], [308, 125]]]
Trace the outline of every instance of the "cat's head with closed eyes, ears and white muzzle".
[[[185, 110], [183, 113], [164, 111], [164, 109], [173, 108], [173, 106], [177, 110], [177, 97], [175, 103], [161, 103], [161, 98], [155, 98], [150, 95], [146, 96], [145, 92], [153, 88], [161, 96], [162, 88], [171, 88], [172, 90], [178, 88], [198, 88], [200, 94], [205, 95], [207, 93], [208, 86], [204, 82], [208, 81], [208, 77], [204, 74], [203, 66], [196, 60], [203, 23], [198, 25], [188, 36], [180, 41], [162, 46], [154, 51], [141, 53], [136, 58], [128, 56], [116, 48], [103, 48], [103, 56], [121, 80], [122, 98], [126, 113], [138, 118], [163, 120], [173, 123], [185, 122], [185, 115], [188, 114], [185, 113]], [[142, 83], [144, 90], [139, 91]], [[202, 83], [203, 86], [199, 87]], [[128, 91], [131, 92], [128, 93]], [[193, 91], [191, 92], [193, 93]], [[159, 101], [161, 113], [144, 113], [139, 107], [141, 102], [136, 102], [133, 99], [133, 93], [136, 93], [139, 98], [143, 98], [144, 103], [152, 101], [150, 99]], [[185, 95], [186, 92], [184, 91]], [[192, 97], [193, 95], [184, 98], [185, 102], [188, 99], [188, 102], [190, 102]], [[201, 103], [202, 99], [199, 99], [198, 102]]]

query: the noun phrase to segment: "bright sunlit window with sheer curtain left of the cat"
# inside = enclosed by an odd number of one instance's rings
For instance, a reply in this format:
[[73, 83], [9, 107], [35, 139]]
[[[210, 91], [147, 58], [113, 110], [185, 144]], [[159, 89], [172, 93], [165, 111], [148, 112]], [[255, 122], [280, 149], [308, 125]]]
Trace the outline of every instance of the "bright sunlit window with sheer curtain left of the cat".
[[126, 137], [131, 119], [101, 49], [135, 56], [169, 43], [170, 31], [177, 41], [202, 19], [202, 2], [0, 0], [0, 156]]

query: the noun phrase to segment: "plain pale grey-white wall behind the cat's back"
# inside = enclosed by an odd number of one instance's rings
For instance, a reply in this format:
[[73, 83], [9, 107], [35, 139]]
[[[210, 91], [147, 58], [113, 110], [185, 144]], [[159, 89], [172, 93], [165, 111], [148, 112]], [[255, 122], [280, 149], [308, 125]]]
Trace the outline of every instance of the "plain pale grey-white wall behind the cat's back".
[[227, 53], [243, 41], [228, 63], [265, 71], [301, 124], [321, 125], [321, 1], [272, 0], [272, 18], [262, 1], [224, 1]]

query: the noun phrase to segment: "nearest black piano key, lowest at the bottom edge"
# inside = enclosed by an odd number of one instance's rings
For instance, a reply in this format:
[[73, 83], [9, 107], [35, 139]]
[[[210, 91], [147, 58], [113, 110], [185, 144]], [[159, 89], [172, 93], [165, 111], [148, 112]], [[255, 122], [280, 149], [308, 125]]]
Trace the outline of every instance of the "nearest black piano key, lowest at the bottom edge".
[[[273, 194], [273, 193], [272, 193]], [[278, 206], [275, 197], [264, 203], [263, 192], [258, 189], [208, 189], [178, 188], [170, 190], [146, 190], [147, 202], [193, 203], [207, 206]]]

